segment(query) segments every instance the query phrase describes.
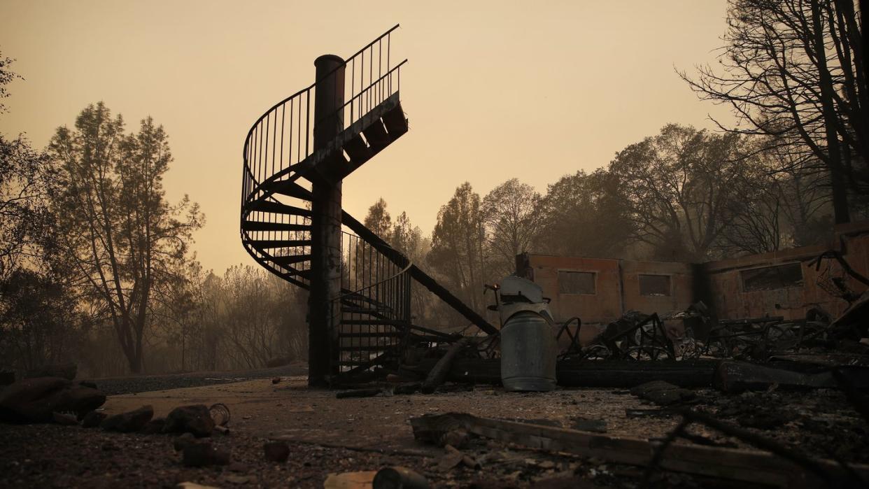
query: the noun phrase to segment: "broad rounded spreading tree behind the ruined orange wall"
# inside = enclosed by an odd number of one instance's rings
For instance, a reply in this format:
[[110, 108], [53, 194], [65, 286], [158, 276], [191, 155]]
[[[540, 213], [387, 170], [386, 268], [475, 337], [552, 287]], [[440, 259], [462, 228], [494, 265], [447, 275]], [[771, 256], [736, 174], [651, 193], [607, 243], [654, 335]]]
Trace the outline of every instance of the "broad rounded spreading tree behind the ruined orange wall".
[[751, 195], [752, 164], [739, 135], [670, 124], [620, 151], [609, 172], [627, 196], [637, 240], [660, 258], [703, 261]]

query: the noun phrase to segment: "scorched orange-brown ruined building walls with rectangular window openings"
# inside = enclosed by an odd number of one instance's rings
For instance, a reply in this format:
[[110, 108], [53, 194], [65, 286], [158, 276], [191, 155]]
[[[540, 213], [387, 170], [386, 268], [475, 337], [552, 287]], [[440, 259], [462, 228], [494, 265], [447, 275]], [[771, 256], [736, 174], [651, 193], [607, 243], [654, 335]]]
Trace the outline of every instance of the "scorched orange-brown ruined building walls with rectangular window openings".
[[819, 246], [700, 264], [520, 254], [516, 265], [517, 273], [540, 284], [552, 299], [555, 320], [579, 316], [592, 326], [583, 340], [590, 340], [595, 325], [606, 325], [626, 311], [666, 314], [695, 301], [704, 301], [720, 319], [800, 319], [813, 307], [836, 317], [847, 303], [827, 291], [831, 278], [844, 277], [857, 294], [866, 286], [843, 274], [838, 263], [821, 261], [816, 269], [812, 262], [835, 249], [854, 270], [869, 276], [869, 221], [839, 225], [835, 231], [833, 239]]

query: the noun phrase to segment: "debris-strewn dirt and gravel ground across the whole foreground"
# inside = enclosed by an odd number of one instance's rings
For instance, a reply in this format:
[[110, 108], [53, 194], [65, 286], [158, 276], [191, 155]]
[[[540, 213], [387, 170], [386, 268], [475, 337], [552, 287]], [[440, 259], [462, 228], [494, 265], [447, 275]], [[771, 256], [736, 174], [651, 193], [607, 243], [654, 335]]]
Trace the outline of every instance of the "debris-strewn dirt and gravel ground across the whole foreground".
[[[229, 406], [229, 435], [216, 446], [232, 453], [229, 466], [187, 468], [164, 434], [104, 433], [80, 426], [0, 426], [0, 486], [172, 487], [183, 481], [219, 487], [323, 487], [330, 473], [408, 466], [442, 487], [639, 487], [638, 467], [564, 453], [545, 453], [477, 439], [465, 448], [481, 469], [444, 469], [445, 451], [415, 441], [408, 420], [426, 413], [472, 413], [505, 420], [603, 431], [609, 436], [660, 439], [679, 417], [617, 389], [559, 389], [505, 393], [501, 388], [446, 387], [430, 395], [336, 399], [335, 391], [308, 389], [303, 376], [110, 396], [107, 414], [143, 405], [164, 417], [176, 406]], [[866, 425], [834, 391], [746, 393], [726, 397], [700, 390], [696, 407], [815, 456], [869, 461]], [[634, 411], [640, 410], [640, 411]], [[650, 415], [652, 414], [652, 415]], [[702, 426], [694, 442], [746, 445]], [[267, 439], [289, 441], [285, 463], [264, 459]], [[652, 486], [701, 487], [713, 481], [656, 473]], [[714, 486], [722, 486], [718, 481]], [[723, 485], [726, 486], [726, 485]], [[745, 487], [744, 484], [734, 485]]]

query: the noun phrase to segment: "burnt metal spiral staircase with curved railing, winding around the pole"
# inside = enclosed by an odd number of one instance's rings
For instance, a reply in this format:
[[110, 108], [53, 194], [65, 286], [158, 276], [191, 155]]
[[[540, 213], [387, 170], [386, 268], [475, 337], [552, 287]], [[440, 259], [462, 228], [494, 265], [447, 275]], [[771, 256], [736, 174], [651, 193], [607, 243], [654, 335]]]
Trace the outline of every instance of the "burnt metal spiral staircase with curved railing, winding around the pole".
[[[297, 287], [309, 289], [313, 276], [312, 185], [341, 182], [408, 132], [401, 107], [401, 67], [392, 65], [392, 29], [342, 60], [343, 81], [335, 113], [316, 115], [318, 85], [326, 76], [256, 120], [244, 143], [242, 244], [255, 261]], [[337, 58], [336, 58], [337, 59]], [[338, 69], [336, 68], [336, 69]], [[330, 73], [329, 75], [334, 75]], [[323, 93], [320, 94], [324, 96]], [[315, 120], [315, 117], [318, 119]], [[314, 148], [318, 123], [337, 122], [335, 137]], [[441, 287], [381, 236], [342, 210], [341, 294], [332, 297], [337, 328], [326, 354], [332, 372], [352, 376], [375, 366], [395, 365], [401, 350], [419, 341], [454, 336], [412, 324], [411, 287], [420, 284], [488, 334], [497, 329]]]

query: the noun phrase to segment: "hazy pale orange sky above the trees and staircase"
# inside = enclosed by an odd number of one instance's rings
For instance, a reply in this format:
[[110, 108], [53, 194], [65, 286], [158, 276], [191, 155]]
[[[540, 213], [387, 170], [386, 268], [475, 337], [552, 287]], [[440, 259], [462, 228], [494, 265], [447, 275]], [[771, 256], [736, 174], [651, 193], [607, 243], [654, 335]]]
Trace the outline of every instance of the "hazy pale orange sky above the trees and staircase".
[[175, 155], [165, 187], [199, 202], [206, 268], [253, 264], [239, 238], [242, 146], [272, 104], [312, 83], [314, 59], [392, 37], [410, 132], [344, 181], [362, 219], [378, 197], [425, 233], [454, 189], [518, 177], [545, 192], [667, 122], [713, 128], [673, 67], [713, 63], [725, 0], [216, 2], [0, 0], [11, 83], [6, 135], [43, 147], [89, 103], [153, 116]]

